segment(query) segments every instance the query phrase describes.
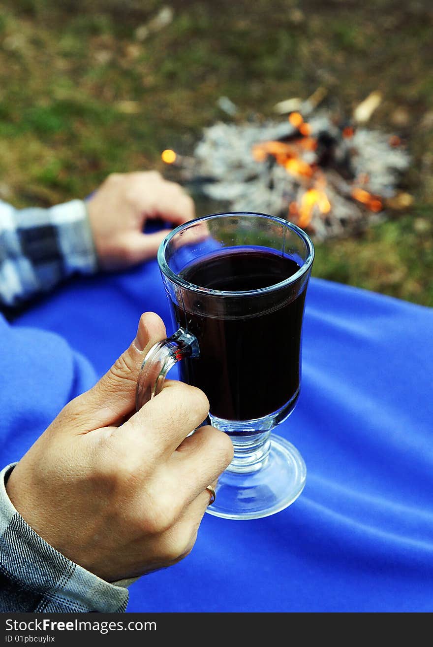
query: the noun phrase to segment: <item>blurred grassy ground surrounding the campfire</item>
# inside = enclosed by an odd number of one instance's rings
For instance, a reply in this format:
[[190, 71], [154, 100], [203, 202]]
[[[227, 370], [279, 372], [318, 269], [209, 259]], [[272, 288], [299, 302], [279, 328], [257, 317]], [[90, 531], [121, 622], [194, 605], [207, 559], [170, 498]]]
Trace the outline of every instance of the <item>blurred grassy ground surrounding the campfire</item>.
[[190, 155], [218, 120], [275, 120], [318, 88], [349, 118], [379, 91], [368, 127], [410, 153], [411, 204], [317, 243], [313, 274], [433, 306], [432, 23], [430, 0], [3, 0], [0, 198], [49, 206], [112, 171], [167, 176], [161, 152]]

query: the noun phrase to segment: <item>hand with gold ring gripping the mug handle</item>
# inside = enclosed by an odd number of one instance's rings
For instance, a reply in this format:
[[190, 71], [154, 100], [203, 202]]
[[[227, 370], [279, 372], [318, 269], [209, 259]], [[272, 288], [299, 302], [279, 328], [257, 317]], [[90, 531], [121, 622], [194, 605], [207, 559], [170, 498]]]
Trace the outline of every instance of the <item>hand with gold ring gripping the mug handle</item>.
[[164, 337], [160, 318], [143, 314], [129, 349], [63, 408], [6, 485], [34, 531], [109, 582], [191, 551], [209, 505], [206, 487], [233, 456], [229, 438], [213, 427], [188, 436], [209, 410], [200, 389], [167, 381], [134, 413], [143, 356]]

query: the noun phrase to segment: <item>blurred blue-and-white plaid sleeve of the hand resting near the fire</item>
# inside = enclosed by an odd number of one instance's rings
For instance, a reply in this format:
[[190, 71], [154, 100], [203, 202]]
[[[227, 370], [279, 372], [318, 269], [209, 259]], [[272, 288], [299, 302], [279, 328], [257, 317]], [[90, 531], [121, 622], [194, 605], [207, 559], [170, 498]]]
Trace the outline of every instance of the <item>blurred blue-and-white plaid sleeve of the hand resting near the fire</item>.
[[19, 305], [74, 272], [96, 269], [83, 201], [21, 210], [0, 201], [0, 303]]

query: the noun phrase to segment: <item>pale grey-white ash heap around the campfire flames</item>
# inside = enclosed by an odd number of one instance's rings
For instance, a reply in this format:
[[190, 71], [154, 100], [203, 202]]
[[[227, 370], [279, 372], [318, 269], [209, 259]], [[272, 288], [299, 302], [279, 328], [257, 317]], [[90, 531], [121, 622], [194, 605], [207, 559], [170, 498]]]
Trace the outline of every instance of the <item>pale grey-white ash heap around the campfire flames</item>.
[[[324, 113], [310, 116], [308, 124], [310, 137], [320, 138], [321, 133], [325, 133], [328, 139], [335, 141], [332, 164], [326, 164], [321, 170], [326, 178], [324, 192], [331, 210], [322, 214], [315, 206], [306, 228], [315, 239], [322, 240], [346, 236], [383, 218], [384, 212], [375, 214], [355, 201], [352, 188], [359, 187], [385, 199], [393, 197], [401, 173], [408, 168], [408, 153], [390, 146], [388, 135], [365, 127], [357, 129], [353, 137], [343, 138], [341, 129]], [[288, 121], [240, 125], [220, 122], [204, 129], [203, 138], [194, 151], [193, 173], [213, 181], [203, 184], [202, 192], [225, 205], [228, 203], [231, 211], [264, 212], [296, 222], [297, 216], [288, 215], [288, 208], [293, 202], [300, 204], [302, 194], [315, 186], [317, 176], [310, 179], [291, 175], [272, 157], [264, 162], [256, 161], [251, 151], [253, 145], [260, 142], [282, 140], [293, 144], [297, 135], [297, 129]], [[319, 161], [318, 151], [302, 149], [299, 157], [308, 164]], [[347, 179], [349, 175], [344, 172], [344, 165], [345, 170], [352, 173], [350, 179]]]

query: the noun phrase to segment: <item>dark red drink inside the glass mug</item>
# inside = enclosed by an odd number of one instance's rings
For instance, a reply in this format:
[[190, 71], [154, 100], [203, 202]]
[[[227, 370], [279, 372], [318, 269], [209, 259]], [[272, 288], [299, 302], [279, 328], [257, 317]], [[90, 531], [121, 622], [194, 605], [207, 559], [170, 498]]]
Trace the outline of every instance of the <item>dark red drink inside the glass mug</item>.
[[[266, 248], [231, 248], [187, 266], [180, 276], [212, 290], [261, 290], [299, 265]], [[180, 362], [180, 378], [198, 386], [211, 414], [233, 421], [261, 418], [299, 394], [306, 281], [257, 294], [182, 291], [173, 304], [178, 325], [195, 334], [198, 358]]]

